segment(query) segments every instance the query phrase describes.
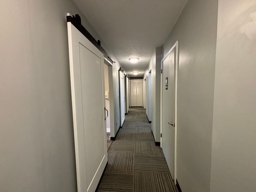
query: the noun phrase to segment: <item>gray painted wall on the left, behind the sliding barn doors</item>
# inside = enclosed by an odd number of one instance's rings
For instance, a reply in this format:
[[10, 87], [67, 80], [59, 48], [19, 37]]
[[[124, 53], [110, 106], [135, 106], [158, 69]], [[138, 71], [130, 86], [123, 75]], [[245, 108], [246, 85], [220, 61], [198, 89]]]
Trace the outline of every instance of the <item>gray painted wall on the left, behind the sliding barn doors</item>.
[[[0, 191], [76, 191], [66, 13], [72, 0], [0, 1]], [[119, 127], [118, 68], [113, 66]]]

